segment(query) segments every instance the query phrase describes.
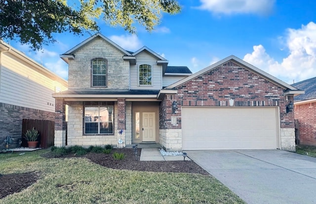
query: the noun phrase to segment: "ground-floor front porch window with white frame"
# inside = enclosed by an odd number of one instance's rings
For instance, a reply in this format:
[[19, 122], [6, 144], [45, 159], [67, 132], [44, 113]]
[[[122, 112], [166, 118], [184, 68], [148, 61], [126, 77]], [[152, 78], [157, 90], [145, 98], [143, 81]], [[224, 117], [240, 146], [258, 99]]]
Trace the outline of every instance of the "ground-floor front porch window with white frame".
[[85, 106], [84, 134], [113, 134], [113, 106]]

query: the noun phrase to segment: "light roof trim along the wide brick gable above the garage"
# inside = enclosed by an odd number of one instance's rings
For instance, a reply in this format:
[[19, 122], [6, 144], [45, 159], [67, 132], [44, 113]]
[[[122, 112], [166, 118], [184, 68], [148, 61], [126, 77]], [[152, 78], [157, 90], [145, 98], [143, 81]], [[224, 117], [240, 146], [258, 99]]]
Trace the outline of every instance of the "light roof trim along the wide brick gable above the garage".
[[224, 59], [222, 59], [222, 60], [220, 60], [220, 61], [218, 61], [218, 62], [216, 62], [216, 63], [214, 63], [214, 64], [212, 64], [212, 65], [210, 65], [210, 66], [208, 66], [208, 67], [206, 67], [206, 68], [204, 68], [204, 69], [202, 69], [202, 70], [200, 70], [200, 71], [198, 71], [198, 72], [196, 72], [194, 74], [192, 74], [191, 76], [188, 76], [188, 77], [186, 77], [186, 78], [184, 78], [184, 79], [182, 79], [182, 80], [180, 80], [180, 81], [178, 81], [178, 82], [176, 82], [176, 83], [174, 83], [174, 84], [172, 84], [172, 85], [170, 85], [168, 87], [165, 87], [165, 88], [166, 89], [172, 89], [172, 88], [175, 88], [177, 86], [180, 86], [180, 85], [182, 85], [182, 84], [184, 84], [184, 83], [186, 83], [186, 82], [188, 82], [188, 81], [190, 81], [190, 80], [192, 80], [192, 79], [194, 79], [194, 78], [196, 78], [196, 77], [198, 77], [200, 75], [205, 74], [206, 72], [209, 72], [209, 71], [217, 68], [218, 66], [220, 66], [220, 65], [222, 65], [222, 64], [224, 64], [224, 63], [226, 63], [228, 61], [233, 61], [233, 62], [237, 63], [238, 65], [242, 66], [243, 68], [245, 68], [245, 69], [247, 69], [247, 70], [249, 70], [249, 71], [251, 71], [251, 72], [253, 72], [255, 74], [258, 74], [262, 78], [272, 82], [273, 84], [276, 84], [277, 86], [282, 87], [284, 90], [286, 90], [285, 94], [303, 94], [304, 93], [304, 91], [299, 90], [299, 89], [297, 89], [295, 87], [292, 87], [291, 85], [289, 85], [289, 84], [277, 79], [276, 77], [268, 74], [267, 72], [255, 67], [255, 66], [243, 61], [242, 59], [237, 58], [234, 55], [231, 55], [231, 56], [229, 56], [227, 58], [224, 58]]

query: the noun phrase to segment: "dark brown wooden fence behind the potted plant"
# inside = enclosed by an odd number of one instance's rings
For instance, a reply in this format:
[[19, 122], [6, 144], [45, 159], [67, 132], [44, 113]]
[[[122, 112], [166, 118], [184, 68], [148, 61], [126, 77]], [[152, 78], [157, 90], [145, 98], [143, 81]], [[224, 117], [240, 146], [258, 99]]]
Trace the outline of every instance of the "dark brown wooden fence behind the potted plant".
[[47, 148], [54, 145], [54, 132], [55, 122], [50, 120], [35, 120], [23, 119], [22, 120], [22, 146], [27, 147], [27, 141], [23, 138], [27, 130], [35, 127], [40, 133], [38, 147]]

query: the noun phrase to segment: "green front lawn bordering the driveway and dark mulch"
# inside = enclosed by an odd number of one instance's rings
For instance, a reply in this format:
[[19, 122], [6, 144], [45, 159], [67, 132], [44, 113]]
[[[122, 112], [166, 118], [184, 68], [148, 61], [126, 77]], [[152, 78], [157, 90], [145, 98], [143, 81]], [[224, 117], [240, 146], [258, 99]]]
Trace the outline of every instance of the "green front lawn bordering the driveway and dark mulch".
[[0, 173], [40, 172], [29, 188], [0, 204], [244, 204], [212, 176], [113, 170], [86, 158], [0, 154]]

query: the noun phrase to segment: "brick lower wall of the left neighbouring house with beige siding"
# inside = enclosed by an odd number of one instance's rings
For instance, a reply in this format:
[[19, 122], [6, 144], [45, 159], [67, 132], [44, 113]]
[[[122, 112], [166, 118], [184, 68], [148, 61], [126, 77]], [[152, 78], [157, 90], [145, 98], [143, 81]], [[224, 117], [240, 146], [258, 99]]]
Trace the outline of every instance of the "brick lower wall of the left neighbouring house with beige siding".
[[6, 136], [14, 139], [9, 148], [17, 147], [18, 139], [22, 139], [23, 118], [54, 121], [55, 113], [0, 103], [0, 149], [6, 148]]

